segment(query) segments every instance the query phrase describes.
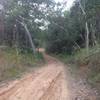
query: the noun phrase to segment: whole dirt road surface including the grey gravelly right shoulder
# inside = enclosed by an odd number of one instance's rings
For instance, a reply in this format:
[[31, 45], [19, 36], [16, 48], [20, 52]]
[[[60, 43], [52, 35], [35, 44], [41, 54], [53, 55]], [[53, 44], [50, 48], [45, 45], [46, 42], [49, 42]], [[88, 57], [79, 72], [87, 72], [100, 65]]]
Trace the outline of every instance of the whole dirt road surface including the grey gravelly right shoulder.
[[[44, 54], [47, 64], [20, 80], [0, 88], [0, 100], [100, 100], [84, 79], [72, 77], [70, 69]], [[67, 80], [67, 81], [66, 81]]]

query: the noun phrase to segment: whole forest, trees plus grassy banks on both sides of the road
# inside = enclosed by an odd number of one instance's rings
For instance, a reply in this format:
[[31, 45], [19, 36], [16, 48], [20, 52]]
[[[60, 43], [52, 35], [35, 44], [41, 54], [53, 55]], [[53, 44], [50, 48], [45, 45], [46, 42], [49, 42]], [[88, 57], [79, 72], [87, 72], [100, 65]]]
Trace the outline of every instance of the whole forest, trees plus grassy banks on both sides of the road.
[[0, 82], [43, 65], [44, 48], [100, 92], [100, 0], [66, 6], [67, 0], [0, 0]]

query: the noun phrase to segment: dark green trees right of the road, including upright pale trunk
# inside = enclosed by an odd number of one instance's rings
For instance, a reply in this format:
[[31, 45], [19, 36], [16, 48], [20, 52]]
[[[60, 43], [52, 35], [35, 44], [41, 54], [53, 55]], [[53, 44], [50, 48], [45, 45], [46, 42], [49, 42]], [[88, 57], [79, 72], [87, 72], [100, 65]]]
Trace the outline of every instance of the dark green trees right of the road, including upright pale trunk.
[[76, 0], [69, 12], [53, 18], [48, 27], [48, 51], [73, 52], [87, 48], [88, 52], [89, 47], [100, 43], [99, 10], [100, 0]]

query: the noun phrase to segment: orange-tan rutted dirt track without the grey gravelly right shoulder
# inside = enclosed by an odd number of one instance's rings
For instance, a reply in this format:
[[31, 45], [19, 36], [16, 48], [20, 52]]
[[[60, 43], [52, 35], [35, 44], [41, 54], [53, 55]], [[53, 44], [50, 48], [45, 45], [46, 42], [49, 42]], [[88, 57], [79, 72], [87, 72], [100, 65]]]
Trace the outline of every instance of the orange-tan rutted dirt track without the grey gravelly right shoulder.
[[0, 100], [70, 100], [64, 66], [45, 56], [48, 64], [0, 88]]

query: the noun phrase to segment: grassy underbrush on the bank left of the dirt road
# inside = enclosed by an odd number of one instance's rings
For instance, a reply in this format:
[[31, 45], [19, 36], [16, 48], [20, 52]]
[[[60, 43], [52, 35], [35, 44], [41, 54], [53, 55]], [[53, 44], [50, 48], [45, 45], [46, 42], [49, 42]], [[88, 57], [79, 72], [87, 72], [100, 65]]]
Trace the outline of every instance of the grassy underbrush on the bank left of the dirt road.
[[43, 64], [43, 55], [16, 52], [16, 49], [0, 50], [0, 82], [19, 78], [23, 73]]

